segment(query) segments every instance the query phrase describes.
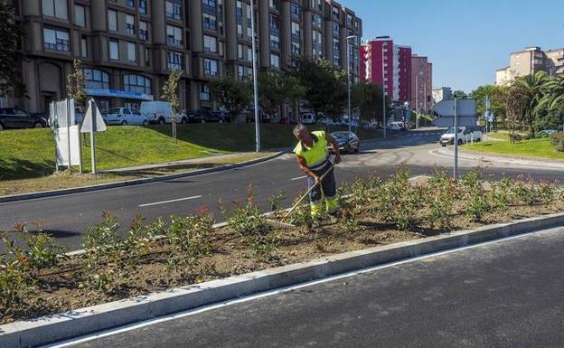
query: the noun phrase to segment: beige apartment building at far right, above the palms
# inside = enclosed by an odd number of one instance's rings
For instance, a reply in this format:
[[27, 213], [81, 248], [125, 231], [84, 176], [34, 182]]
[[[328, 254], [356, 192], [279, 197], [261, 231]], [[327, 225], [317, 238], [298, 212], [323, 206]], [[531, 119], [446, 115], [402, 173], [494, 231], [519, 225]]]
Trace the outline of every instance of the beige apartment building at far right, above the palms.
[[523, 51], [510, 53], [508, 67], [495, 71], [495, 85], [507, 85], [518, 77], [537, 71], [549, 75], [564, 72], [564, 48], [542, 51], [540, 47], [528, 47]]

